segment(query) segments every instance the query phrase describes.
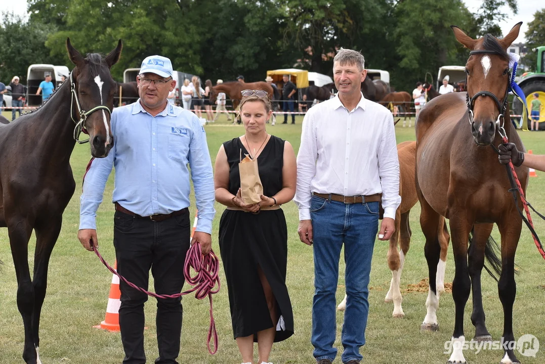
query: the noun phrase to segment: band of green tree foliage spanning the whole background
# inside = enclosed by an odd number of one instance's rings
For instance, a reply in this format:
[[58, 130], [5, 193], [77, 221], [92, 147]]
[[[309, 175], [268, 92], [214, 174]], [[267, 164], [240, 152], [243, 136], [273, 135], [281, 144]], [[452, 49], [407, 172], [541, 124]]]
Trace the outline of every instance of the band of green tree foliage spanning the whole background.
[[[139, 66], [150, 54], [165, 55], [175, 70], [213, 81], [237, 75], [261, 81], [267, 70], [288, 67], [332, 75], [332, 58], [344, 47], [361, 51], [366, 67], [389, 71], [397, 90], [412, 89], [426, 75], [435, 81], [440, 66], [465, 64], [468, 52], [457, 43], [451, 24], [470, 36], [499, 34], [494, 27], [505, 17], [501, 6], [517, 10], [516, 0], [484, 0], [476, 14], [470, 14], [462, 0], [28, 0], [28, 4], [29, 21], [17, 26], [38, 33], [25, 40], [31, 43], [24, 43], [31, 57], [17, 61], [22, 70], [53, 60], [72, 68], [65, 50], [67, 37], [82, 53], [107, 53], [122, 39], [122, 58], [112, 69], [118, 80], [123, 70]], [[28, 33], [27, 28], [22, 32]], [[15, 57], [9, 51], [2, 54]]]

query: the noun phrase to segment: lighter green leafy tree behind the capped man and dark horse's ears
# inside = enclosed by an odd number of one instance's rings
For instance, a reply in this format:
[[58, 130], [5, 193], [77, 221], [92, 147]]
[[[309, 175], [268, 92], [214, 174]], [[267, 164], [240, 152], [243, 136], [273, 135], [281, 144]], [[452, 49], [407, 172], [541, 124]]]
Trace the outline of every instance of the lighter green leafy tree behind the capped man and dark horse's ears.
[[[182, 7], [163, 0], [82, 0], [66, 2], [62, 11], [51, 4], [57, 0], [33, 0], [30, 9], [46, 9], [54, 22], [60, 23], [59, 31], [49, 36], [46, 46], [56, 57], [66, 55], [65, 41], [82, 52], [106, 53], [123, 40], [122, 58], [113, 67], [114, 78], [122, 79], [123, 71], [138, 67], [150, 54], [169, 57], [176, 69], [189, 73], [201, 73], [199, 22], [187, 18]], [[190, 13], [188, 13], [190, 14]]]

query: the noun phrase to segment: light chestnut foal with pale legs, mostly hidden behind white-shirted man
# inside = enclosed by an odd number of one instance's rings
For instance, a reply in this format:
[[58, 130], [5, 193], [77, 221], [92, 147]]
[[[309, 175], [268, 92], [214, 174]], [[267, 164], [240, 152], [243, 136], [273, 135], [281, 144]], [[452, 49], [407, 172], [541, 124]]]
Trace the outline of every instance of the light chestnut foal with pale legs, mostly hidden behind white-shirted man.
[[[399, 205], [396, 211], [396, 230], [390, 237], [390, 246], [386, 255], [388, 267], [392, 272], [392, 280], [390, 281], [390, 289], [384, 298], [385, 302], [393, 302], [392, 316], [395, 318], [405, 316], [401, 307], [403, 299], [401, 296], [400, 281], [412, 234], [409, 226], [409, 213], [411, 208], [418, 202], [414, 178], [416, 141], [404, 141], [403, 143], [399, 143], [397, 145], [397, 156], [399, 159], [399, 195], [401, 196], [401, 205]], [[439, 236], [441, 254], [437, 264], [437, 279], [435, 281], [437, 290], [440, 294], [445, 291], [446, 256], [449, 249], [450, 235], [444, 218], [439, 220], [439, 227], [442, 227], [443, 229], [440, 230], [441, 233]], [[344, 300], [338, 305], [337, 309], [344, 310], [345, 308], [346, 295], [344, 295]]]

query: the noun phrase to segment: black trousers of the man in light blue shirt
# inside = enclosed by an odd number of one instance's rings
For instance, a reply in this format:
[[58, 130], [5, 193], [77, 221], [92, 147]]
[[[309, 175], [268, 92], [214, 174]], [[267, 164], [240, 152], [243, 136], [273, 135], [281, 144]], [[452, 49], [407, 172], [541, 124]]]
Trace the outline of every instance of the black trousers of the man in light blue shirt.
[[[158, 294], [180, 293], [184, 262], [190, 246], [189, 210], [161, 222], [116, 211], [113, 244], [117, 272], [138, 287], [148, 289], [149, 270]], [[120, 282], [119, 326], [125, 350], [124, 364], [146, 362], [144, 354], [144, 302], [148, 296]], [[181, 298], [157, 299], [157, 364], [177, 363], [180, 351]]]

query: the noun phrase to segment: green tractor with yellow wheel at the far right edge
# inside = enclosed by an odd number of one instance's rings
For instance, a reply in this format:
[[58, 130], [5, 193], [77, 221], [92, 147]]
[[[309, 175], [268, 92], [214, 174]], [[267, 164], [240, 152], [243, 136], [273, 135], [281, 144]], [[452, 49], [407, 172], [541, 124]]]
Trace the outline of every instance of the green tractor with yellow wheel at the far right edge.
[[[534, 100], [534, 94], [537, 92], [539, 100], [543, 105], [542, 112], [540, 114], [540, 130], [545, 130], [545, 46], [537, 47], [537, 66], [536, 72], [523, 73], [522, 78], [518, 82], [518, 85], [523, 90], [526, 96], [526, 103], [528, 104], [528, 123], [530, 123], [530, 103]], [[516, 115], [522, 114], [522, 102], [518, 98], [513, 98], [513, 113]], [[518, 119], [518, 118], [517, 118]], [[528, 125], [530, 128], [530, 125]]]

